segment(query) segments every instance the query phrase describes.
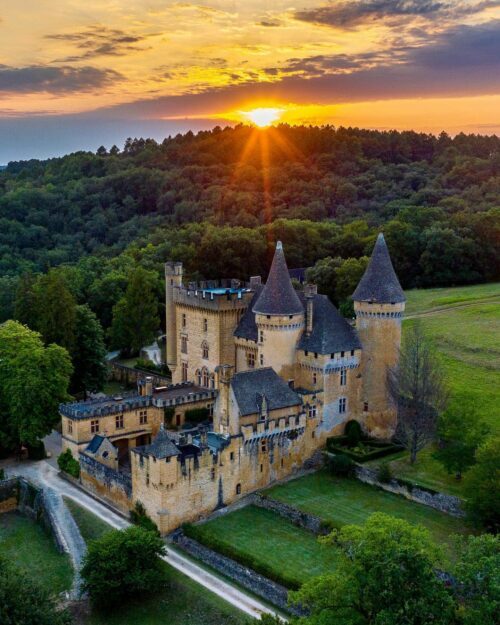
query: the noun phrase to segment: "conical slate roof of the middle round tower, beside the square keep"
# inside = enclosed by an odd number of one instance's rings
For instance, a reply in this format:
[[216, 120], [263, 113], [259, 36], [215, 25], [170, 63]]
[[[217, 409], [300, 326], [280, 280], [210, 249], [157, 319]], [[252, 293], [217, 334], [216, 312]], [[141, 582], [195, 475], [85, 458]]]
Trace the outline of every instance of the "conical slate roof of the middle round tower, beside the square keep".
[[260, 315], [297, 315], [304, 312], [290, 280], [281, 241], [276, 244], [266, 286], [255, 302], [253, 312]]

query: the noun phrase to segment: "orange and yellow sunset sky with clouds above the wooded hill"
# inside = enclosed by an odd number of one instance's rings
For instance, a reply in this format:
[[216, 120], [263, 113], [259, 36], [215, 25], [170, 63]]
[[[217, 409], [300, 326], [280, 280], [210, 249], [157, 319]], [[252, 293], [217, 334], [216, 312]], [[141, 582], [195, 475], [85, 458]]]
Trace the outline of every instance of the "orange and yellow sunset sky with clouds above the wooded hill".
[[14, 0], [0, 164], [245, 121], [500, 133], [500, 0]]

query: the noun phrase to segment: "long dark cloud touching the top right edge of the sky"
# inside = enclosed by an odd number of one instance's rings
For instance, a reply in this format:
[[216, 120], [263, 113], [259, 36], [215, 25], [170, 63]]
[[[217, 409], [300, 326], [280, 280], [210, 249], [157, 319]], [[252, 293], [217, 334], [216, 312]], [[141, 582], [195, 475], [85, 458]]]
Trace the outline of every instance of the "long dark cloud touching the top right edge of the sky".
[[472, 3], [469, 0], [341, 0], [296, 11], [295, 18], [337, 28], [353, 28], [372, 21], [409, 17], [456, 19], [497, 6], [500, 6], [497, 0]]

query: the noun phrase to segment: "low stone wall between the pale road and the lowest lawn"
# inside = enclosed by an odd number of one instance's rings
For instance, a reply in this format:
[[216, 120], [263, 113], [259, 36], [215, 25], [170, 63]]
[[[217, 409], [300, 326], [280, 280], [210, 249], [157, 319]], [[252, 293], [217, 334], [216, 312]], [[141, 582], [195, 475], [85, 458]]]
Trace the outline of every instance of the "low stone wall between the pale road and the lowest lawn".
[[288, 605], [288, 590], [276, 582], [267, 579], [263, 575], [256, 573], [235, 560], [212, 551], [208, 547], [200, 544], [192, 538], [184, 535], [182, 530], [175, 531], [170, 540], [183, 551], [207, 564], [222, 575], [240, 584], [250, 592], [262, 597], [269, 603], [297, 616], [304, 614], [299, 608]]

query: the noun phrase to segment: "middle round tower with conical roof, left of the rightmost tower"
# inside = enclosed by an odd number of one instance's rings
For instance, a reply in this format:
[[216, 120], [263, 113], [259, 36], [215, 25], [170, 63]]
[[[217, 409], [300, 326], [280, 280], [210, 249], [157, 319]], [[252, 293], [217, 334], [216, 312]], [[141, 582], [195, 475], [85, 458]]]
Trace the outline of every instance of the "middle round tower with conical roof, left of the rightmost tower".
[[284, 380], [294, 377], [295, 350], [304, 331], [304, 307], [290, 280], [281, 241], [276, 244], [266, 285], [253, 307], [258, 366], [272, 367]]

